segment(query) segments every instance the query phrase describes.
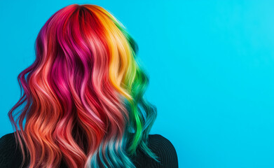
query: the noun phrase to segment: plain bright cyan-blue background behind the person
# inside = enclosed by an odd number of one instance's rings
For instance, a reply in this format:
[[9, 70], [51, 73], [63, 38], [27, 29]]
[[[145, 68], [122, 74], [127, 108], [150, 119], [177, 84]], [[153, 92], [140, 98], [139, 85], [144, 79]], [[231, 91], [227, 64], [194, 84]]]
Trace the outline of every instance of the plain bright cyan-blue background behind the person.
[[274, 1], [1, 1], [0, 136], [20, 98], [43, 24], [71, 3], [111, 11], [139, 45], [146, 91], [158, 107], [151, 134], [179, 167], [274, 167]]

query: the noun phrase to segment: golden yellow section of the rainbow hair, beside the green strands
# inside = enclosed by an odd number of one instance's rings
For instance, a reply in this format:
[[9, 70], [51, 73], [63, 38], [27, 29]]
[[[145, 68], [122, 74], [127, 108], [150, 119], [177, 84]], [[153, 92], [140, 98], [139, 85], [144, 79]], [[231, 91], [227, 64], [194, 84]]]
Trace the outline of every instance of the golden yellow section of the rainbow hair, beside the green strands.
[[[128, 101], [132, 102], [132, 96], [128, 92], [130, 90], [133, 80], [136, 75], [136, 64], [134, 62], [134, 53], [130, 50], [130, 44], [125, 38], [125, 35], [111, 20], [116, 18], [111, 15], [107, 10], [100, 6], [93, 6], [96, 10], [95, 15], [101, 18], [103, 27], [105, 28], [105, 34], [108, 37], [107, 43], [109, 45], [110, 65], [109, 65], [109, 78], [111, 84], [114, 85], [116, 90], [120, 92]], [[102, 11], [104, 13], [102, 13]], [[116, 20], [118, 22], [118, 20]], [[119, 24], [123, 26], [119, 22]], [[132, 73], [130, 73], [132, 72]], [[129, 77], [130, 76], [130, 77]], [[127, 81], [127, 79], [130, 79]], [[126, 83], [126, 84], [125, 84]], [[129, 87], [128, 90], [125, 87]]]

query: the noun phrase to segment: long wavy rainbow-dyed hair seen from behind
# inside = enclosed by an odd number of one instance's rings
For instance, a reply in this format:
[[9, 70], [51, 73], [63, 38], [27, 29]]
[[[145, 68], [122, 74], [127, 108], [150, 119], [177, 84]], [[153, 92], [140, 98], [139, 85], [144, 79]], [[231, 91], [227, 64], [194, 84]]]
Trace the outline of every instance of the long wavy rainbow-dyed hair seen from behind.
[[[135, 167], [148, 148], [156, 106], [137, 43], [114, 15], [72, 4], [53, 14], [35, 41], [36, 59], [18, 75], [20, 100], [8, 112], [23, 166]], [[25, 153], [25, 150], [27, 153]]]

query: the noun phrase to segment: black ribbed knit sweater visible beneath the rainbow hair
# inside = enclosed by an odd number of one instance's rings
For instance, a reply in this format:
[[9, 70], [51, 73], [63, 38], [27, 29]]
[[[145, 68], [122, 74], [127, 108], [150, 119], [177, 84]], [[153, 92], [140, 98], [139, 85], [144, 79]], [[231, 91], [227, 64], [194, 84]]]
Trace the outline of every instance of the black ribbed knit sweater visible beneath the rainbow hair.
[[[0, 167], [17, 168], [22, 163], [22, 153], [20, 148], [15, 148], [15, 136], [13, 133], [6, 134], [0, 139]], [[159, 134], [149, 135], [149, 148], [159, 157], [160, 162], [149, 158], [141, 151], [137, 151], [136, 157], [132, 158], [137, 168], [177, 168], [178, 158], [174, 146], [169, 140]], [[25, 167], [27, 163], [25, 163]], [[61, 162], [61, 168], [67, 167]]]

